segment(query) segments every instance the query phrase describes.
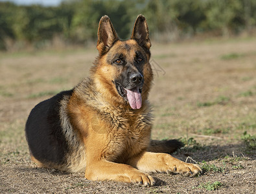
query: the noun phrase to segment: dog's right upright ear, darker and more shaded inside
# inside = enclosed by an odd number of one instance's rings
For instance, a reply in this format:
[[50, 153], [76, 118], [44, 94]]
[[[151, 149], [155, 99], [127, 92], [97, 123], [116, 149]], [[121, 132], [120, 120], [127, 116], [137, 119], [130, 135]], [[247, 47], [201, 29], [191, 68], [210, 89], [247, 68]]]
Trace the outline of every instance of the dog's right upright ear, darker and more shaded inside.
[[139, 15], [134, 24], [134, 30], [132, 30], [131, 39], [135, 39], [141, 47], [149, 49], [151, 47], [149, 39], [148, 24], [146, 18], [143, 15]]

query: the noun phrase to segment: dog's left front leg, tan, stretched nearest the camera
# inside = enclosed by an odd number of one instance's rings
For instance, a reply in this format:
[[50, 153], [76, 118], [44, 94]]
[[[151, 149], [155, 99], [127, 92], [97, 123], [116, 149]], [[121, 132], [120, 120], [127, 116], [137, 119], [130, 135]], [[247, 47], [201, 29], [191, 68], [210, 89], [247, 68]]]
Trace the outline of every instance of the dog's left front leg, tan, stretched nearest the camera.
[[85, 177], [89, 180], [115, 180], [133, 182], [144, 186], [153, 186], [154, 178], [127, 164], [118, 164], [100, 160], [89, 162], [86, 166]]

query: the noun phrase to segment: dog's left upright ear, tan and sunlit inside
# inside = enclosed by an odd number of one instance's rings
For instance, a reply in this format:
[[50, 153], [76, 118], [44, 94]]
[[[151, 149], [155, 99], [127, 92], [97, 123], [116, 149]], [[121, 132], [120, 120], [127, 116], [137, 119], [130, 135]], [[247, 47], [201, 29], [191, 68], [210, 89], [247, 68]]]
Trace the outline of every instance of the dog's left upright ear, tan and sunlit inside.
[[117, 32], [113, 28], [110, 17], [102, 16], [98, 28], [97, 49], [99, 50], [99, 54], [102, 55], [107, 52], [118, 39]]

